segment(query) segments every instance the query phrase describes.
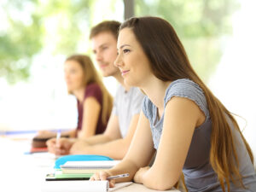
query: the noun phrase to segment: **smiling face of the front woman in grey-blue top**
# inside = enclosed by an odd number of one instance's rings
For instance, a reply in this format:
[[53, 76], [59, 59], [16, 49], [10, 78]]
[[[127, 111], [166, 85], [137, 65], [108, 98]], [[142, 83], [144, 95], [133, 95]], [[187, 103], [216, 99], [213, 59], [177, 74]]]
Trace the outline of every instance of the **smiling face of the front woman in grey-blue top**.
[[130, 28], [124, 28], [119, 32], [118, 57], [114, 65], [119, 67], [125, 84], [143, 87], [153, 73], [151, 72], [148, 57]]

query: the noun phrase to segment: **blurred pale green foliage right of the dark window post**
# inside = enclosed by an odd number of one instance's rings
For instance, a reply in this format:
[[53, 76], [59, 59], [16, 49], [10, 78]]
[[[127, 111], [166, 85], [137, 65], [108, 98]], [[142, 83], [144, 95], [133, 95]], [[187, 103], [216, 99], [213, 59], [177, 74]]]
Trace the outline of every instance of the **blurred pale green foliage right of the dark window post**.
[[231, 34], [230, 18], [236, 8], [236, 0], [142, 0], [136, 2], [136, 15], [168, 20], [195, 70], [208, 80], [222, 55], [219, 38]]

